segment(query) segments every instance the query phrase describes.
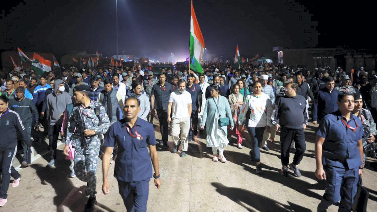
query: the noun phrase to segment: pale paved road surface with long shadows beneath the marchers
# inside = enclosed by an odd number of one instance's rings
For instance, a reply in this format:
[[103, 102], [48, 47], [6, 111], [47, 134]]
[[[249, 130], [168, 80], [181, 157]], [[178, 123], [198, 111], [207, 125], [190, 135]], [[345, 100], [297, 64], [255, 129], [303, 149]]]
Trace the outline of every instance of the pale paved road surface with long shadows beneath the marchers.
[[[318, 126], [318, 125], [317, 125]], [[210, 147], [205, 146], [205, 135], [189, 144], [185, 158], [179, 154], [159, 150], [161, 189], [150, 182], [148, 211], [316, 211], [325, 189], [325, 183], [314, 176], [315, 128], [306, 130], [307, 151], [300, 170], [302, 177], [280, 174], [280, 145], [269, 143], [270, 151], [261, 150], [264, 174], [255, 173], [256, 164], [248, 159], [250, 145], [244, 140], [244, 148], [235, 147], [233, 137], [225, 147], [226, 163], [211, 161]], [[156, 124], [156, 138], [160, 139]], [[249, 136], [246, 136], [249, 139]], [[277, 135], [276, 140], [279, 140]], [[169, 142], [170, 151], [172, 142]], [[58, 147], [58, 163], [46, 167], [48, 156], [34, 161], [30, 167], [20, 170], [20, 186], [9, 187], [8, 203], [2, 211], [83, 211], [87, 201], [86, 183], [77, 178], [68, 178], [69, 161], [64, 160], [63, 145]], [[291, 160], [293, 154], [291, 154]], [[368, 211], [377, 211], [377, 169], [369, 158], [364, 169], [363, 182], [370, 191]], [[15, 165], [17, 165], [15, 161]], [[96, 211], [125, 211], [123, 200], [118, 194], [114, 177], [109, 176], [110, 194], [101, 192], [102, 166], [97, 172]], [[110, 166], [110, 175], [113, 173]], [[328, 211], [337, 211], [331, 206]]]

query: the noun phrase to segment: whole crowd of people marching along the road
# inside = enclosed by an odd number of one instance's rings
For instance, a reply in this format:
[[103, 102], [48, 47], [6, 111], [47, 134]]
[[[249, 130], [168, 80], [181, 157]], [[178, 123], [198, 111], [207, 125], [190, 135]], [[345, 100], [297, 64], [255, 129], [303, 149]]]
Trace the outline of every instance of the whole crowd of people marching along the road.
[[[270, 143], [279, 143], [281, 174], [288, 176], [291, 170], [300, 177], [299, 164], [306, 150], [304, 129], [311, 120], [319, 124], [315, 175], [327, 182], [318, 210], [339, 200], [340, 209], [351, 210], [365, 158], [375, 157], [374, 70], [366, 72], [360, 67], [351, 75], [340, 67], [310, 71], [246, 64], [234, 69], [225, 63], [207, 64], [203, 73], [185, 66], [162, 69], [161, 73], [150, 70], [150, 66], [136, 64], [70, 67], [42, 76], [33, 70], [2, 71], [0, 131], [7, 139], [0, 141], [0, 206], [7, 201], [10, 178], [14, 178], [13, 187], [20, 183], [21, 175], [12, 166], [15, 155], [22, 154], [21, 166], [28, 167], [31, 146], [41, 140], [35, 132], [42, 129], [39, 135], [49, 139], [47, 166], [59, 162], [57, 143], [61, 137], [64, 155], [71, 161], [68, 177], [87, 182], [86, 211], [93, 211], [96, 204], [101, 145], [106, 146], [104, 194], [109, 193], [107, 174], [115, 160], [114, 176], [123, 200], [137, 191], [134, 207], [146, 211], [150, 178], [155, 179], [157, 188], [161, 186], [156, 148], [169, 148], [169, 128], [173, 154], [179, 152], [184, 158], [189, 141], [204, 135], [205, 130], [212, 161], [222, 163], [227, 161], [224, 149], [230, 136], [236, 137], [236, 147], [241, 149], [247, 129], [249, 156], [256, 163], [257, 174], [263, 173], [260, 148], [270, 151]], [[153, 128], [155, 118], [161, 132], [159, 142]], [[280, 141], [275, 140], [276, 132]], [[290, 152], [294, 153], [291, 163]]]

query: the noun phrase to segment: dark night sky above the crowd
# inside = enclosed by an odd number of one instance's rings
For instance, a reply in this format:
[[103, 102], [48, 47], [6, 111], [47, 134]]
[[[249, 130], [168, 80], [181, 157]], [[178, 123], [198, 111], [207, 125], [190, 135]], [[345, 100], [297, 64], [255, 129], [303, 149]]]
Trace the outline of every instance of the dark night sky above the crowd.
[[[304, 1], [301, 1], [304, 2]], [[309, 1], [305, 1], [309, 2]], [[331, 1], [195, 0], [196, 17], [209, 54], [274, 55], [285, 48], [375, 49], [373, 5]], [[118, 54], [181, 60], [188, 55], [190, 0], [118, 0]], [[0, 49], [53, 52], [98, 49], [116, 54], [115, 0], [12, 1], [2, 14]], [[355, 4], [355, 3], [354, 3]]]

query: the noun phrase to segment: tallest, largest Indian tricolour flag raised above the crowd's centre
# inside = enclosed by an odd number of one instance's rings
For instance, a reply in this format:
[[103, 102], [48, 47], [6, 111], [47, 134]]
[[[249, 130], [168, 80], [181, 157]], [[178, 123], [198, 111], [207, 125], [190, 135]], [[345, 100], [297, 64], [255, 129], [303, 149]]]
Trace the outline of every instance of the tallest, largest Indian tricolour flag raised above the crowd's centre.
[[202, 64], [204, 54], [204, 38], [200, 31], [198, 20], [191, 1], [191, 23], [190, 23], [190, 69], [203, 73]]

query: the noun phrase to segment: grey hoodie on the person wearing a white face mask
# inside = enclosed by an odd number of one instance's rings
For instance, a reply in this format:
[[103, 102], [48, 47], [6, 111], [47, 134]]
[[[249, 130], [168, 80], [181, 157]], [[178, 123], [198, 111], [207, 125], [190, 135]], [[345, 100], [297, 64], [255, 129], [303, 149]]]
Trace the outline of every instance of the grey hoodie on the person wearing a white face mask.
[[55, 80], [54, 89], [46, 99], [46, 117], [49, 119], [50, 124], [61, 124], [63, 121], [63, 116], [59, 118], [60, 114], [64, 113], [67, 108], [67, 104], [72, 103], [72, 99], [67, 92], [55, 94], [55, 90], [61, 83], [64, 83], [63, 80]]

